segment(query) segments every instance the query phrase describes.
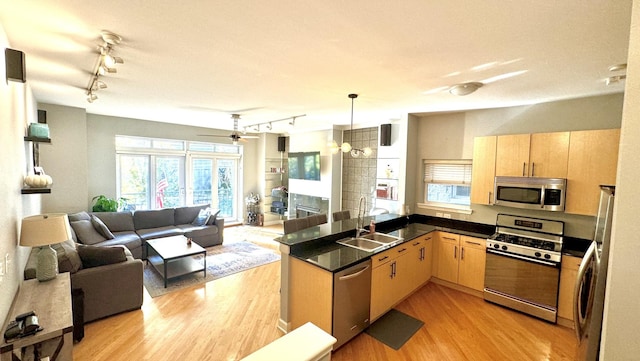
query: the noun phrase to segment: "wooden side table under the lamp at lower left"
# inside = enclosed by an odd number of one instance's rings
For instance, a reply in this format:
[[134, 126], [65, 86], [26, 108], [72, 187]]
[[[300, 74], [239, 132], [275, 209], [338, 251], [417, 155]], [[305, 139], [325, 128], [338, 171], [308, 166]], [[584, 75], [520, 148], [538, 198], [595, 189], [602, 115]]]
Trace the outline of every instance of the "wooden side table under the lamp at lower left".
[[53, 280], [45, 282], [35, 279], [23, 281], [3, 325], [3, 335], [9, 321], [14, 320], [16, 315], [28, 311], [35, 311], [43, 330], [35, 335], [9, 342], [2, 338], [0, 361], [30, 360], [34, 348], [38, 349], [41, 359], [73, 361], [73, 314], [69, 273], [61, 273]]

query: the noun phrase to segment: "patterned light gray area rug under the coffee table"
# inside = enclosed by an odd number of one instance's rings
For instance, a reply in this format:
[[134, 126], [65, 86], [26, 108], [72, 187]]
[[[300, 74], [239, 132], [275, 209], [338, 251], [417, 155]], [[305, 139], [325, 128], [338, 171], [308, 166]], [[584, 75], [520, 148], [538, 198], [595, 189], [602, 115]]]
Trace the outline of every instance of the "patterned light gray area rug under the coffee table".
[[171, 279], [167, 288], [153, 266], [144, 267], [144, 287], [151, 297], [158, 297], [200, 283], [206, 283], [234, 273], [279, 261], [280, 255], [272, 249], [251, 242], [239, 241], [207, 248], [207, 276], [202, 272]]

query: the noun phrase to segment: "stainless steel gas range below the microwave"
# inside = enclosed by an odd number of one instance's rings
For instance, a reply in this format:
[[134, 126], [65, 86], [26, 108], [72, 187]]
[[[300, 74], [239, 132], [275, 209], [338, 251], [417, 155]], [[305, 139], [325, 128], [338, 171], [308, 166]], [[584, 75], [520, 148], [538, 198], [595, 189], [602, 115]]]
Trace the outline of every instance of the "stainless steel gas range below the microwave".
[[560, 221], [498, 214], [484, 299], [555, 323], [563, 235]]

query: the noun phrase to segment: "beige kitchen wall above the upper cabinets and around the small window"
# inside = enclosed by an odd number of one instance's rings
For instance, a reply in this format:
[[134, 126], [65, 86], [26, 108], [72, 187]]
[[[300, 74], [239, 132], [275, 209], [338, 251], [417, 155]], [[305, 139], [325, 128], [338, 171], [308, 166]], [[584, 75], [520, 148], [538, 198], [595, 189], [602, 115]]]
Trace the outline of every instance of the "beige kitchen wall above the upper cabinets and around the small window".
[[[414, 121], [417, 133], [413, 148], [416, 156], [412, 163], [417, 170], [413, 176], [415, 198], [407, 201], [413, 201], [415, 207], [415, 202], [424, 198], [423, 159], [471, 159], [473, 138], [478, 136], [619, 128], [623, 99], [619, 93], [536, 105], [422, 115]], [[593, 235], [594, 217], [590, 216], [475, 204], [472, 209], [471, 215], [452, 213], [452, 217], [495, 224], [496, 214], [507, 212], [564, 221], [568, 236], [590, 239]], [[435, 216], [436, 211], [417, 209], [416, 213]]]

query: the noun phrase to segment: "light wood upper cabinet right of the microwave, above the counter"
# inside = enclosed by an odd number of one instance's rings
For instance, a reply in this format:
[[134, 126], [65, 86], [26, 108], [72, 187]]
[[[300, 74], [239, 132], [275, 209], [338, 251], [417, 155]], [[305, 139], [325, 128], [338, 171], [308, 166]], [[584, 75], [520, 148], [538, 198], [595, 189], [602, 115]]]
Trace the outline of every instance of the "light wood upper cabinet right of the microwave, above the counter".
[[600, 185], [616, 184], [620, 129], [571, 132], [566, 213], [595, 215]]

